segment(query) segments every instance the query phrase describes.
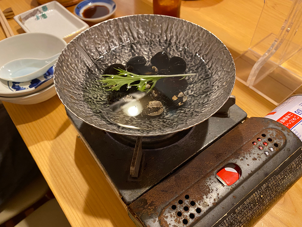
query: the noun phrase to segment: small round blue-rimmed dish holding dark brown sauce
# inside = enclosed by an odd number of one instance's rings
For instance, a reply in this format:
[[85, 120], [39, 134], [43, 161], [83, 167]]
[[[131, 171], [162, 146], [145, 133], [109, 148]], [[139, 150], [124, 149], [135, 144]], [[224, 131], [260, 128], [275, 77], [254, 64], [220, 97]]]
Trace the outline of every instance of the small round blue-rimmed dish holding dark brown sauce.
[[76, 5], [74, 13], [83, 21], [98, 23], [111, 17], [115, 10], [112, 0], [84, 0]]

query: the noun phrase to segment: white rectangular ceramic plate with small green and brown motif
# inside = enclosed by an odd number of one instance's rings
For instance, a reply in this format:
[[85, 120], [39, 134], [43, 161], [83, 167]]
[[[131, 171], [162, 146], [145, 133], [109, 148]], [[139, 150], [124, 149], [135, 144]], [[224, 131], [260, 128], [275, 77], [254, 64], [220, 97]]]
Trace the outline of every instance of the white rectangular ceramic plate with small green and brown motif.
[[26, 32], [48, 33], [63, 38], [66, 42], [89, 27], [57, 1], [16, 15], [14, 20]]

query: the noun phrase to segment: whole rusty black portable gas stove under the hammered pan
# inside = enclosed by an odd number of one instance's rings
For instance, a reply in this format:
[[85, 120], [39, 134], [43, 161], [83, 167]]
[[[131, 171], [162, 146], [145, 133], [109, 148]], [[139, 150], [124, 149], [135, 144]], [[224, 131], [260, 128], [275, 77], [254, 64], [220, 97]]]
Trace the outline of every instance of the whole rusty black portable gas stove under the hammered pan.
[[137, 226], [252, 226], [302, 175], [298, 137], [246, 119], [235, 97], [203, 123], [157, 137], [107, 133], [66, 111]]

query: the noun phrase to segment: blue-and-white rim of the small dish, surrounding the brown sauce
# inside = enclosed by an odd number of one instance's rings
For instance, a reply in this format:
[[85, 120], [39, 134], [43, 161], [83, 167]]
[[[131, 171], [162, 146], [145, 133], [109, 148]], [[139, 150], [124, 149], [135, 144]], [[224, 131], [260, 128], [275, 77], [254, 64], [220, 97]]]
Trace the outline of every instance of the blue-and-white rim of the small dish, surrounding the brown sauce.
[[[109, 13], [103, 17], [85, 18], [83, 16], [84, 10], [94, 5], [106, 6], [109, 9]], [[115, 13], [115, 10], [116, 10], [116, 3], [113, 0], [84, 0], [80, 2], [78, 5], [76, 5], [73, 12], [76, 16], [78, 16], [83, 21], [98, 23], [111, 17]]]

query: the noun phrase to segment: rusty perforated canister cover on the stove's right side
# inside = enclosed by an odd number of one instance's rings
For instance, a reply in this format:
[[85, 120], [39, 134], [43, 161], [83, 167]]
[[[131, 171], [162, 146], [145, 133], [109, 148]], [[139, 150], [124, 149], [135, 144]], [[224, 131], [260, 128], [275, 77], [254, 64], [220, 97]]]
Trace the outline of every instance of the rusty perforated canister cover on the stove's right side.
[[[146, 227], [212, 226], [300, 146], [302, 142], [280, 123], [247, 119], [132, 202], [129, 210]], [[242, 170], [231, 186], [216, 178], [227, 163]]]

